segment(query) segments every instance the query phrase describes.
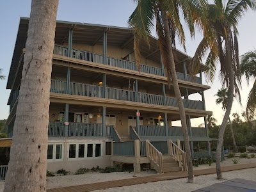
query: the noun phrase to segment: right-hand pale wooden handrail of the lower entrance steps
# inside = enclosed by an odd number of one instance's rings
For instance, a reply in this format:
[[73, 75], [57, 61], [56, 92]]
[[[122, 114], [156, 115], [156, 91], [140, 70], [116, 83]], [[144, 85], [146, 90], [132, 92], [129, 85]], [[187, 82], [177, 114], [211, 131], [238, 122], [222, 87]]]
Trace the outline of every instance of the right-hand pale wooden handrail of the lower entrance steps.
[[172, 140], [168, 140], [168, 154], [179, 162], [179, 166], [182, 166], [183, 171], [187, 171], [187, 159], [186, 152], [182, 150], [178, 145], [173, 143]]

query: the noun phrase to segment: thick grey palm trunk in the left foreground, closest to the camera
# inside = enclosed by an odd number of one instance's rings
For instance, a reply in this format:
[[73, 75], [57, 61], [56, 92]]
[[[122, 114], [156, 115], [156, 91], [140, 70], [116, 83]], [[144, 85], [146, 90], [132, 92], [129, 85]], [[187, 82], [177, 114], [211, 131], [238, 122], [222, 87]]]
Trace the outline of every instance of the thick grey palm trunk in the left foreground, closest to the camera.
[[46, 191], [49, 90], [58, 0], [33, 0], [4, 192]]

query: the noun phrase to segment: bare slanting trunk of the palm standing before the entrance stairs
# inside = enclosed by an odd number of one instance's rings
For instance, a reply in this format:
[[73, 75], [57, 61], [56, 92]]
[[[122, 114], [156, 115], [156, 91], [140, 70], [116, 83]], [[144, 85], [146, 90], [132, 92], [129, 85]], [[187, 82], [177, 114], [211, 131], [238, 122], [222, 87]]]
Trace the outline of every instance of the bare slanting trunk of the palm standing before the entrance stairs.
[[175, 93], [175, 97], [177, 99], [178, 107], [179, 107], [179, 114], [180, 114], [180, 122], [182, 125], [182, 132], [183, 132], [183, 137], [184, 137], [184, 145], [185, 145], [185, 152], [186, 152], [186, 158], [187, 158], [187, 163], [188, 163], [188, 182], [189, 183], [194, 183], [194, 172], [193, 172], [193, 163], [192, 163], [192, 158], [191, 158], [191, 150], [190, 150], [190, 145], [189, 145], [189, 135], [188, 135], [188, 127], [187, 127], [187, 122], [186, 122], [186, 115], [185, 115], [185, 109], [184, 109], [184, 104], [183, 100], [180, 94], [180, 88], [178, 84], [178, 79], [176, 75], [176, 69], [175, 69], [175, 61], [173, 58], [173, 50], [172, 50], [172, 39], [170, 37], [170, 29], [168, 25], [168, 18], [166, 13], [163, 13], [163, 22], [164, 22], [164, 34], [165, 38], [167, 41], [167, 49], [168, 52], [170, 53], [168, 56], [168, 63], [170, 63], [170, 71], [171, 71], [171, 77], [172, 77], [172, 83], [173, 83], [173, 90]]

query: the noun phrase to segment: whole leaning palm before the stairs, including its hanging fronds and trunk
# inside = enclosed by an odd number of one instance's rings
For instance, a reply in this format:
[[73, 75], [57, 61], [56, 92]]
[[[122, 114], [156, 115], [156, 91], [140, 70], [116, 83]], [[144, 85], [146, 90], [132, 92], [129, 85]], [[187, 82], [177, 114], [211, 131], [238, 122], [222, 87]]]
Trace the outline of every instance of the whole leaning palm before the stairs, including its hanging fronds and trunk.
[[178, 37], [180, 44], [185, 48], [185, 36], [182, 24], [180, 23], [180, 12], [184, 14], [191, 35], [194, 35], [195, 31], [191, 15], [193, 15], [192, 13], [195, 11], [193, 5], [195, 5], [196, 1], [136, 0], [136, 2], [138, 3], [137, 7], [128, 21], [129, 26], [134, 29], [136, 63], [140, 70], [140, 42], [143, 40], [149, 45], [150, 32], [151, 29], [154, 28], [154, 23], [156, 23], [158, 45], [163, 58], [166, 76], [168, 83], [171, 84], [172, 82], [173, 84], [175, 97], [178, 102], [186, 158], [188, 161], [188, 182], [194, 182], [186, 115], [177, 81], [173, 50], [175, 48], [175, 36]]

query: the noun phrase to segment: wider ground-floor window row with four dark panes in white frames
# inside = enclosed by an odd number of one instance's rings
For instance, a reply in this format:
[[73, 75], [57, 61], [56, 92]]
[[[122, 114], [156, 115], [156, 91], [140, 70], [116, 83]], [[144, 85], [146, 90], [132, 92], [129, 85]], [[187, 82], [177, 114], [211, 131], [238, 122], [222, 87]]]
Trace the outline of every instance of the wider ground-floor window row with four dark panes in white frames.
[[70, 143], [68, 159], [86, 159], [102, 157], [102, 143]]

